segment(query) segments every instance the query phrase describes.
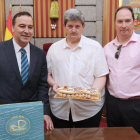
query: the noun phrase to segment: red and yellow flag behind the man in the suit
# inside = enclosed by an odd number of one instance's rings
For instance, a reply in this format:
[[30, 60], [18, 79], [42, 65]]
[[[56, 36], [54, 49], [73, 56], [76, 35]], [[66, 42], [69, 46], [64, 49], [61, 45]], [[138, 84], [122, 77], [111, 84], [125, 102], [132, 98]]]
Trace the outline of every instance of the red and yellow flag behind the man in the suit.
[[10, 4], [4, 41], [11, 39], [13, 36], [14, 33], [12, 32], [12, 16], [11, 16], [11, 4]]

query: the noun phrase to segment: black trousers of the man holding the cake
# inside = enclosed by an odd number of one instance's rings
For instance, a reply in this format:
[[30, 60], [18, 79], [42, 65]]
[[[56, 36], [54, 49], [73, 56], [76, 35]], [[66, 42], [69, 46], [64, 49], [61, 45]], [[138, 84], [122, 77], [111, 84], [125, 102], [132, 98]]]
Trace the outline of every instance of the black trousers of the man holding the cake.
[[51, 118], [54, 124], [54, 128], [73, 128], [73, 127], [87, 128], [87, 127], [99, 127], [101, 115], [102, 115], [102, 109], [95, 116], [77, 122], [73, 122], [71, 111], [69, 114], [69, 121], [59, 119], [55, 117], [52, 113], [51, 113]]

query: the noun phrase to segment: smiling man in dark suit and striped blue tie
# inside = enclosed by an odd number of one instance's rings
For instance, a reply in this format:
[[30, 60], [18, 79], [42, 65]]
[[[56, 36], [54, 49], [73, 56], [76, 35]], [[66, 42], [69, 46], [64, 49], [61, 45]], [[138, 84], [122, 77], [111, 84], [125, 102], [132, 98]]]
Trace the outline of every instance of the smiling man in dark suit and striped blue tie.
[[14, 37], [0, 42], [0, 104], [42, 101], [47, 129], [52, 130], [46, 55], [29, 43], [33, 35], [31, 15], [17, 13], [12, 29]]

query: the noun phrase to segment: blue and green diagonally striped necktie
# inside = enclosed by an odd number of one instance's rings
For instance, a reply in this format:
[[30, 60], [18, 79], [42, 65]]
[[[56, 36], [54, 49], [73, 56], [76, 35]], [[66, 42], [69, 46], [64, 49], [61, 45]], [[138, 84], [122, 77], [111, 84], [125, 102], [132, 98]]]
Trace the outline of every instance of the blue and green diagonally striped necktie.
[[29, 75], [29, 64], [25, 49], [21, 48], [20, 51], [21, 51], [21, 78], [23, 85], [25, 85]]

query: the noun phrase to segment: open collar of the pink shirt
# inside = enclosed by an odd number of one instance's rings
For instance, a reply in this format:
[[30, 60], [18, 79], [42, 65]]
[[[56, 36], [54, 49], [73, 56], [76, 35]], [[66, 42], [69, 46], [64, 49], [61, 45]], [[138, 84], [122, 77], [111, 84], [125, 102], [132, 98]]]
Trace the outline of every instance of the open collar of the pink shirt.
[[[123, 46], [127, 46], [127, 44], [128, 44], [129, 42], [137, 42], [137, 41], [138, 41], [138, 40], [137, 40], [137, 35], [136, 35], [135, 32], [133, 32], [131, 38], [130, 38]], [[118, 42], [118, 38], [117, 38], [117, 37], [112, 41], [112, 43], [113, 43], [113, 45], [115, 45], [115, 46], [119, 46], [119, 45], [120, 45], [120, 43]]]

